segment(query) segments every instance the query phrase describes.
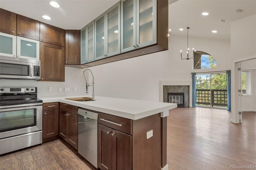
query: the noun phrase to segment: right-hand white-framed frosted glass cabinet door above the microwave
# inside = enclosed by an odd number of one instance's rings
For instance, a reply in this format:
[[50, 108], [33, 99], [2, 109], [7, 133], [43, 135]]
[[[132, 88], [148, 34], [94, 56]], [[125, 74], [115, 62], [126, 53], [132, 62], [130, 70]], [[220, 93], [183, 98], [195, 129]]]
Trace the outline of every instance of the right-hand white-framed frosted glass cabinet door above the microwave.
[[17, 57], [40, 59], [40, 42], [17, 36]]

